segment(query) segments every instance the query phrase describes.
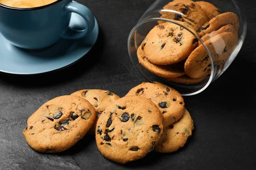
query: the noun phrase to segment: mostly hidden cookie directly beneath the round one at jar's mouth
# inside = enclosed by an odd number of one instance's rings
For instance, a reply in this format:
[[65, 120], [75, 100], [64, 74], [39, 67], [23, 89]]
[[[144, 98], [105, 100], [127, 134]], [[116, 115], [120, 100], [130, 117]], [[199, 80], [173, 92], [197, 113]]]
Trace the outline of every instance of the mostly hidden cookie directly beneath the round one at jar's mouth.
[[151, 71], [152, 73], [161, 77], [179, 77], [185, 74], [184, 64], [185, 61], [177, 62], [172, 65], [155, 65], [148, 61], [145, 57], [144, 51], [142, 50], [142, 45], [137, 50], [137, 57], [139, 62], [143, 67]]

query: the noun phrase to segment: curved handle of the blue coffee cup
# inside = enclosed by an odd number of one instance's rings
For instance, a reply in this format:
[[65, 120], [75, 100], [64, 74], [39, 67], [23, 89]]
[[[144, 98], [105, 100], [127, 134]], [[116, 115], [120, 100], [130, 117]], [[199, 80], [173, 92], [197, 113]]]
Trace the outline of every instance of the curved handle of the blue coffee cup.
[[86, 22], [86, 28], [84, 28], [83, 31], [75, 31], [72, 28], [68, 28], [68, 30], [62, 35], [62, 38], [79, 39], [85, 37], [88, 33], [93, 31], [95, 26], [95, 19], [89, 8], [80, 3], [70, 2], [65, 6], [65, 11], [67, 13], [74, 12], [81, 15], [81, 17], [83, 17]]

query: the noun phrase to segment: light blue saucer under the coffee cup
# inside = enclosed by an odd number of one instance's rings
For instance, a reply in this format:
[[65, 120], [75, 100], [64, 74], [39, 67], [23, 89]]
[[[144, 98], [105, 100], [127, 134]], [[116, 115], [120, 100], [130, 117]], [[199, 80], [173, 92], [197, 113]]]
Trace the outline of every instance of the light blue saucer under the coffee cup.
[[[81, 21], [80, 17], [72, 13], [70, 26], [76, 28]], [[87, 37], [80, 40], [61, 39], [41, 51], [18, 48], [0, 34], [0, 71], [10, 74], [40, 74], [64, 68], [87, 54], [95, 44], [98, 34], [99, 26], [95, 19], [95, 27]]]

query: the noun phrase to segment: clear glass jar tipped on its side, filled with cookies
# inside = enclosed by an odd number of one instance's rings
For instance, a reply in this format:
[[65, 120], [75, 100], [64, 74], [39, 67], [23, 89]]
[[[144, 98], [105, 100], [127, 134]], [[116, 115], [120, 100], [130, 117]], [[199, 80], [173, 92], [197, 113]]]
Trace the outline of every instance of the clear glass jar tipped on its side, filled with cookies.
[[131, 30], [128, 52], [145, 79], [191, 96], [227, 70], [246, 31], [235, 0], [156, 0]]

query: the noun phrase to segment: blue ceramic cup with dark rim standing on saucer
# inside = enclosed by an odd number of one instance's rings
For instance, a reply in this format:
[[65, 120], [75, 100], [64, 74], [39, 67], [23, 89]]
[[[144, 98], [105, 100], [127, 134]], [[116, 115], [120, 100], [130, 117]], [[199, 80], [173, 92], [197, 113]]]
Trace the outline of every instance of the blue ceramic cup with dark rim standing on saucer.
[[[69, 27], [71, 12], [84, 18], [84, 30]], [[0, 4], [0, 33], [20, 48], [41, 49], [60, 38], [79, 39], [89, 34], [94, 25], [95, 18], [90, 9], [72, 0], [57, 0], [36, 8], [12, 8]]]

